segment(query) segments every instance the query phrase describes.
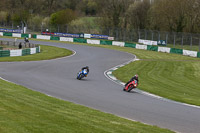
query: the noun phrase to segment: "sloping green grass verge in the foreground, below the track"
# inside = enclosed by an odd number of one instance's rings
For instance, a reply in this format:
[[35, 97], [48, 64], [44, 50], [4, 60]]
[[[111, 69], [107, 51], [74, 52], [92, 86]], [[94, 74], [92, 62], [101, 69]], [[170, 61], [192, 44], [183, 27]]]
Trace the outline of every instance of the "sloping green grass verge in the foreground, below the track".
[[0, 80], [1, 133], [170, 133]]

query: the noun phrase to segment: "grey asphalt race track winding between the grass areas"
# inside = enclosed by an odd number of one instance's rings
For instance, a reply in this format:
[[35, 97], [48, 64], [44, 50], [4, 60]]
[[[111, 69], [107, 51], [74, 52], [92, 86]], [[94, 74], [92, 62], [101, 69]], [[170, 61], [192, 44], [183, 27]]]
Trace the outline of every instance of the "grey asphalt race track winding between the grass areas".
[[[0, 77], [50, 96], [128, 119], [177, 132], [200, 133], [200, 108], [136, 92], [127, 93], [121, 85], [105, 77], [106, 70], [132, 60], [133, 55], [99, 47], [30, 42], [67, 48], [76, 54], [46, 61], [0, 62]], [[88, 77], [77, 80], [77, 72], [86, 65], [90, 67]]]

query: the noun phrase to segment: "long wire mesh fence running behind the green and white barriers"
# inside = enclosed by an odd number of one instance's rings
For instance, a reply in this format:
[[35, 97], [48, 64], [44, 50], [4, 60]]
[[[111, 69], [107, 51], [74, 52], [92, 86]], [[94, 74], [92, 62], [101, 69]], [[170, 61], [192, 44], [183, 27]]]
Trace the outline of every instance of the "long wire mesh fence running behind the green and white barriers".
[[[5, 27], [4, 27], [5, 28]], [[20, 28], [7, 27], [7, 28]], [[167, 46], [200, 51], [200, 34], [162, 32], [154, 30], [141, 29], [123, 29], [123, 28], [102, 28], [89, 26], [68, 26], [68, 25], [30, 25], [27, 28], [28, 33], [41, 32], [59, 32], [59, 33], [88, 33], [101, 34], [114, 37], [117, 41], [138, 42], [139, 39], [159, 41], [165, 40]]]

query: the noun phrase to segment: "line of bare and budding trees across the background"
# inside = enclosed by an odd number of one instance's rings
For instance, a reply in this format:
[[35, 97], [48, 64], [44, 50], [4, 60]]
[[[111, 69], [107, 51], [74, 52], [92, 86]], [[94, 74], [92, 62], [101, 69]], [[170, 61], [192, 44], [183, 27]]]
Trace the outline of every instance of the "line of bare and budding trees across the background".
[[102, 28], [200, 32], [200, 0], [1, 0], [0, 24], [70, 25], [95, 17]]

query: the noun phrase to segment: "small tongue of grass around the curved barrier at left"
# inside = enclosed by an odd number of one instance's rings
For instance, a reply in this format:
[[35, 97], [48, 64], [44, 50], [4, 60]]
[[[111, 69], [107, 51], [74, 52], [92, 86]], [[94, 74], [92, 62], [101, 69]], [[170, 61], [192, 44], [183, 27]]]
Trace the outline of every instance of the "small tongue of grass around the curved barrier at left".
[[67, 49], [41, 45], [40, 53], [26, 56], [0, 57], [0, 62], [50, 60], [69, 56], [71, 54], [73, 54], [73, 52]]

